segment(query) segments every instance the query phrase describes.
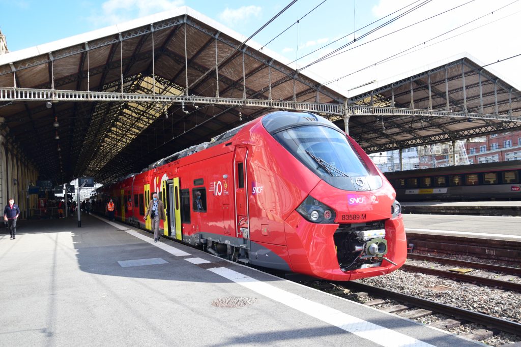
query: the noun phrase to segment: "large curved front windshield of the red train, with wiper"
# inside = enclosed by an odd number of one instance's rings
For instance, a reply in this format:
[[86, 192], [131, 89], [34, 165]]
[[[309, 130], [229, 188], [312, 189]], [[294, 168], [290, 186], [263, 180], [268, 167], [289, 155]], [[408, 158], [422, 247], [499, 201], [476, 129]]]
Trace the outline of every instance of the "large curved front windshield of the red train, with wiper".
[[370, 175], [345, 135], [330, 127], [296, 126], [274, 137], [321, 178]]

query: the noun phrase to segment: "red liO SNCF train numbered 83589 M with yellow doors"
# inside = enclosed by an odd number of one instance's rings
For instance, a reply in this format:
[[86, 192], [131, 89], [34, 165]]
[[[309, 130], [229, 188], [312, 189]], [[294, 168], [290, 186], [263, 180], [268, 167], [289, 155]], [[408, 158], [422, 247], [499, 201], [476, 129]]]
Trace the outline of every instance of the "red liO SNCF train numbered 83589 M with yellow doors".
[[[406, 258], [401, 206], [363, 149], [312, 113], [274, 112], [164, 158], [93, 196], [104, 213], [229, 260], [331, 280], [387, 274]], [[196, 196], [201, 193], [201, 199]]]

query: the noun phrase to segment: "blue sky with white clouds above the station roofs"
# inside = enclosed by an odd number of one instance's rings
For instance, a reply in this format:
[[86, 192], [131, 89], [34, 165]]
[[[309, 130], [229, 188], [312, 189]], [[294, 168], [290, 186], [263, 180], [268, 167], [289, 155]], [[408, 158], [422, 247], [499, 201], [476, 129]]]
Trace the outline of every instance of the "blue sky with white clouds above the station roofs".
[[[0, 30], [6, 35], [8, 49], [14, 51], [189, 6], [247, 37], [289, 3], [290, 0], [0, 0]], [[411, 11], [405, 13], [407, 10]], [[305, 16], [309, 11], [312, 12]], [[391, 15], [394, 11], [398, 12]], [[395, 19], [399, 15], [403, 16]], [[395, 20], [378, 29], [392, 19]], [[371, 24], [375, 21], [378, 22]], [[483, 65], [519, 55], [520, 22], [520, 0], [298, 0], [253, 41], [286, 58], [284, 62], [293, 62], [293, 67], [298, 58], [296, 67], [303, 69], [303, 74], [328, 83], [349, 97], [362, 92], [363, 87], [356, 88], [361, 85], [373, 81], [390, 83], [393, 78], [425, 71], [427, 66], [439, 66], [464, 53]], [[306, 67], [344, 45], [338, 55]], [[494, 63], [487, 69], [519, 89], [520, 64], [521, 56]]]

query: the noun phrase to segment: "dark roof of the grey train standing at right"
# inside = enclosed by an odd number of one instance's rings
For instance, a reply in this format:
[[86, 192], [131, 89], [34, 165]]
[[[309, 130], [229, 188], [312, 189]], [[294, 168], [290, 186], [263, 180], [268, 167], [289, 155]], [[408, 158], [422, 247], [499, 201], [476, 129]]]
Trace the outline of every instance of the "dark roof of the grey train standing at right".
[[496, 170], [521, 170], [521, 160], [510, 160], [501, 161], [494, 163], [482, 163], [482, 164], [470, 164], [470, 165], [457, 165], [457, 166], [443, 166], [442, 168], [435, 169], [418, 169], [418, 170], [407, 170], [407, 171], [395, 171], [386, 172], [387, 178], [402, 178], [402, 177], [415, 177], [415, 176], [431, 176], [431, 175], [446, 175], [454, 173], [471, 173], [471, 172], [483, 172], [483, 171], [496, 171]]

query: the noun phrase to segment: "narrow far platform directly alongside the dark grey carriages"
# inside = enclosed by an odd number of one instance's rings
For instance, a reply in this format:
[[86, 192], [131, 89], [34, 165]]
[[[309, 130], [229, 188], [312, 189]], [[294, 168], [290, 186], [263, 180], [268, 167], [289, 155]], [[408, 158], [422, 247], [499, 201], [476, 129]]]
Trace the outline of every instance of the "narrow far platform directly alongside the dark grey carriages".
[[401, 204], [404, 214], [521, 216], [521, 201], [416, 201]]

